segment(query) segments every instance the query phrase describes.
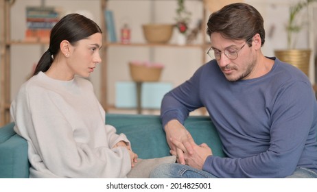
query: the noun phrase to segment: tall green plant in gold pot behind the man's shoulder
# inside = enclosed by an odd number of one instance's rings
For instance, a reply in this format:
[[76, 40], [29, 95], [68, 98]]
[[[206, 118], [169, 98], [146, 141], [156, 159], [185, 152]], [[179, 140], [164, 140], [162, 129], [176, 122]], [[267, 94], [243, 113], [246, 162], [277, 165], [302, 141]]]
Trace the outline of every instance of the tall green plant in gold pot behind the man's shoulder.
[[310, 49], [296, 49], [296, 35], [301, 32], [305, 23], [301, 20], [300, 13], [304, 8], [317, 0], [305, 0], [298, 1], [294, 5], [290, 6], [290, 13], [285, 26], [287, 32], [287, 49], [274, 51], [275, 56], [284, 62], [293, 64], [294, 66], [301, 69], [307, 76], [309, 76], [309, 60], [310, 60]]

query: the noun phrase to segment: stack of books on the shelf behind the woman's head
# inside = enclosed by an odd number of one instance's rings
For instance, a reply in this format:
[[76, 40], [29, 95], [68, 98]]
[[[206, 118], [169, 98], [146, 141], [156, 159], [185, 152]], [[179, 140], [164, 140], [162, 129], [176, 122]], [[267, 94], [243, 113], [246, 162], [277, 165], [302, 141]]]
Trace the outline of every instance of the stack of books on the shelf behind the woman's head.
[[56, 7], [26, 8], [26, 41], [48, 41], [51, 29], [60, 19], [60, 9]]

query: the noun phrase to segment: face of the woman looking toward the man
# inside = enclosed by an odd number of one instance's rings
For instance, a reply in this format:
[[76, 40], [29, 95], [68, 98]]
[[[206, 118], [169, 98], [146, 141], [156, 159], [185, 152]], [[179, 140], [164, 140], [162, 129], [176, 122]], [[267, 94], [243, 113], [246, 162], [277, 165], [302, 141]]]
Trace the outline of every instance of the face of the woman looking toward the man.
[[79, 40], [71, 46], [67, 67], [73, 75], [89, 77], [97, 64], [102, 62], [99, 50], [102, 47], [102, 34], [96, 33], [86, 39]]

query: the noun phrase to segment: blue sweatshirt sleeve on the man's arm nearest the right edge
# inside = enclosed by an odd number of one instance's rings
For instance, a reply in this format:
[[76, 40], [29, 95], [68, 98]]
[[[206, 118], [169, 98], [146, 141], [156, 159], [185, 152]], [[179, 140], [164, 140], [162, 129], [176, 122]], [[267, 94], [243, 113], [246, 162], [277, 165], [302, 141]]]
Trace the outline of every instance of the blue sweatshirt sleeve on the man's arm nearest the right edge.
[[285, 86], [274, 101], [271, 114], [270, 146], [266, 152], [246, 158], [209, 156], [203, 170], [220, 178], [285, 178], [291, 175], [314, 123], [315, 98], [307, 82]]

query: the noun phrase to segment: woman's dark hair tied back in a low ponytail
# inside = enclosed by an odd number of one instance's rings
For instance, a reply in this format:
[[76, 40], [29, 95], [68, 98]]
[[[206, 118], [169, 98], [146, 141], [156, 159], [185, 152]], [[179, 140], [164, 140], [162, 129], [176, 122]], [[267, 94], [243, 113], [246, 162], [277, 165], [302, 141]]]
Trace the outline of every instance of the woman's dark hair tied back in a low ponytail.
[[71, 45], [75, 45], [78, 40], [88, 38], [95, 33], [102, 33], [100, 27], [92, 21], [80, 14], [67, 14], [64, 16], [53, 29], [49, 37], [49, 49], [43, 54], [38, 61], [33, 75], [40, 71], [47, 71], [51, 67], [51, 63], [60, 51], [60, 43], [62, 40], [68, 40]]

